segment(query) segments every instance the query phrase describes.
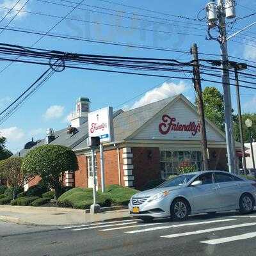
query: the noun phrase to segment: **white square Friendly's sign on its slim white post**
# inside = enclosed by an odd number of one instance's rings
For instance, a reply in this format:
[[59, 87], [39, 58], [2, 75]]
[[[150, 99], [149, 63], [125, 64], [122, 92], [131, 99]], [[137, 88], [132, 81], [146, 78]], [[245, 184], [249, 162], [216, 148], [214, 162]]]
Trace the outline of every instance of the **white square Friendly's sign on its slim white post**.
[[100, 174], [101, 191], [105, 191], [104, 179], [104, 151], [103, 143], [114, 140], [113, 132], [113, 108], [107, 107], [88, 113], [88, 134], [89, 137], [100, 138]]

